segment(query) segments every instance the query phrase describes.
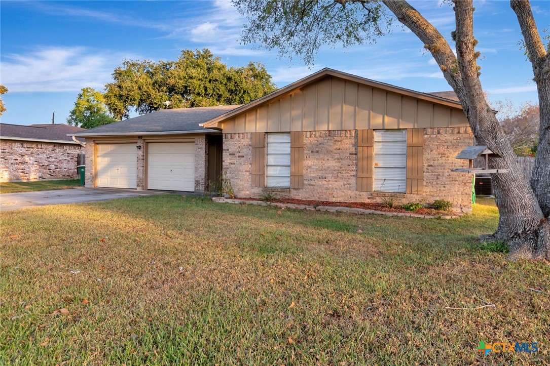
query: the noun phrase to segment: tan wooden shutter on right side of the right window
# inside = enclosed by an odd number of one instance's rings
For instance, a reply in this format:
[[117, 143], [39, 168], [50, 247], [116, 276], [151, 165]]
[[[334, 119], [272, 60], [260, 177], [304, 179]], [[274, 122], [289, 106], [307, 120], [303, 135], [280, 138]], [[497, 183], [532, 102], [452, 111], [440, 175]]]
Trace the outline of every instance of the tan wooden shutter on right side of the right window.
[[407, 129], [406, 193], [424, 192], [424, 129]]

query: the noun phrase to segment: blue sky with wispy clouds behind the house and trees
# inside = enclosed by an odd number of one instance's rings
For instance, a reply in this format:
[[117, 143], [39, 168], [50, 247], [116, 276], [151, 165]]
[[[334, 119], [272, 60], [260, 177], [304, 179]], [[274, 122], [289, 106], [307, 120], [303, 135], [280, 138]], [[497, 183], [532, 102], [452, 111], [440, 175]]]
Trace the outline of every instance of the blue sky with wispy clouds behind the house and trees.
[[[550, 24], [550, 1], [532, 1], [540, 30]], [[454, 29], [452, 9], [440, 1], [411, 1], [443, 35]], [[517, 45], [522, 36], [507, 1], [475, 2], [481, 81], [493, 101], [536, 101], [531, 66]], [[418, 91], [450, 90], [430, 54], [409, 31], [372, 46], [323, 48], [312, 68], [238, 42], [245, 20], [228, 1], [6, 1], [0, 2], [3, 123], [64, 122], [83, 87], [102, 90], [123, 59], [176, 59], [182, 49], [210, 48], [228, 65], [266, 65], [278, 87], [323, 67]]]

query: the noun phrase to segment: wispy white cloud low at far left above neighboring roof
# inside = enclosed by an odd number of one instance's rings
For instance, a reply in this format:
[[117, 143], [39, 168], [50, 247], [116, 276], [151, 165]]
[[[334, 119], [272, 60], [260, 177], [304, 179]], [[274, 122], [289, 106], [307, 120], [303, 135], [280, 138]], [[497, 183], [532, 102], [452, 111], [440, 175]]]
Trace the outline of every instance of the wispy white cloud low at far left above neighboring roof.
[[102, 89], [124, 58], [136, 57], [85, 47], [44, 47], [27, 54], [7, 54], [1, 64], [2, 84], [10, 93]]

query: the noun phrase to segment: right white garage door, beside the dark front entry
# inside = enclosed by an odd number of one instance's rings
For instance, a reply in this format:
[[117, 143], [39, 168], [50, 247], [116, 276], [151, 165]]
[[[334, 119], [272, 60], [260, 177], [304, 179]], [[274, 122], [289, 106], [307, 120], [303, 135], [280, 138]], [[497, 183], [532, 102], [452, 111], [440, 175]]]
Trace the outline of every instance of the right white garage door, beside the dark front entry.
[[149, 143], [147, 189], [195, 191], [195, 143]]

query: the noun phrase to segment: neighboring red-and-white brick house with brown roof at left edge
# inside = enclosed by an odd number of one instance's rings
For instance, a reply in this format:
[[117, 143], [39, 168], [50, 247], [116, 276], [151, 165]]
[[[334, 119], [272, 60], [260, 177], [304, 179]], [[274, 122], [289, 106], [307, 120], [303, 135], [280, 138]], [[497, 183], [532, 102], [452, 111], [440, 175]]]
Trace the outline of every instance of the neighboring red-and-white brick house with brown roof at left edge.
[[0, 181], [75, 179], [84, 147], [67, 134], [85, 131], [65, 124], [0, 124]]

